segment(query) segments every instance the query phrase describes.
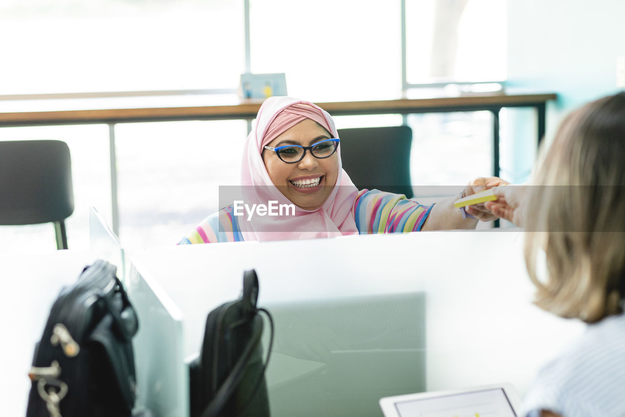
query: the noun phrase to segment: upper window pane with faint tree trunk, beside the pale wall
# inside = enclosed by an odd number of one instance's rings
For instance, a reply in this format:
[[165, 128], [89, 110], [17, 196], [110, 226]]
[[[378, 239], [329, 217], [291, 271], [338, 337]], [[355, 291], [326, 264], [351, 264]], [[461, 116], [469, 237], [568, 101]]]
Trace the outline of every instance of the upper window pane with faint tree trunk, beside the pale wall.
[[410, 84], [506, 79], [502, 0], [406, 0]]

